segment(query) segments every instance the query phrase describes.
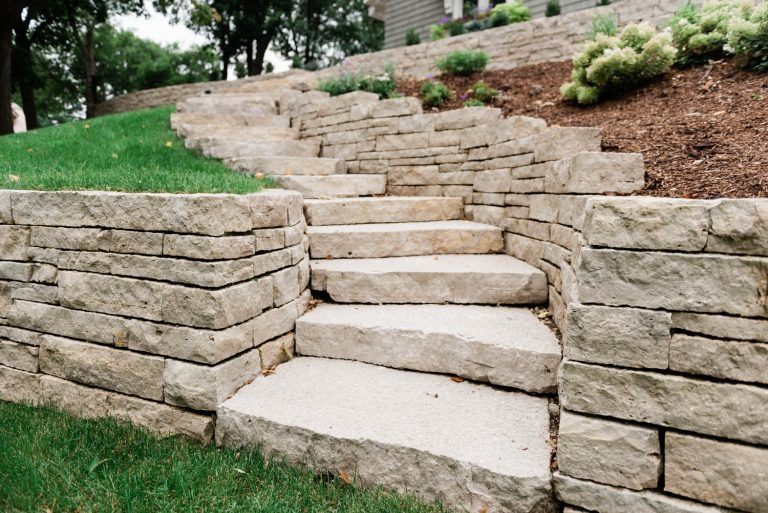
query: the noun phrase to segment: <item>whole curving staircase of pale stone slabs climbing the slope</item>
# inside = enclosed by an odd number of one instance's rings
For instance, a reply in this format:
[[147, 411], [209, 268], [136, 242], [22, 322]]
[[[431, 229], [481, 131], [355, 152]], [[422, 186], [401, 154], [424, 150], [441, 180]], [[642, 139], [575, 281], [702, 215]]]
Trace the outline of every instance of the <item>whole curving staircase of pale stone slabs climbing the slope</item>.
[[[463, 220], [461, 199], [380, 196], [385, 174], [320, 158], [269, 98], [223, 96], [183, 102], [174, 127], [303, 193], [323, 301], [296, 323], [298, 357], [219, 406], [217, 441], [472, 512], [557, 511], [545, 394], [561, 351], [528, 308], [547, 302], [544, 273]], [[265, 123], [218, 125], [219, 101]]]

